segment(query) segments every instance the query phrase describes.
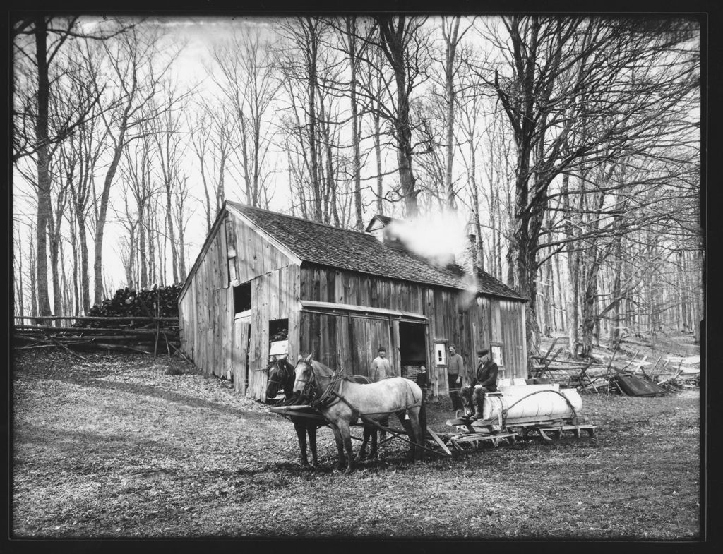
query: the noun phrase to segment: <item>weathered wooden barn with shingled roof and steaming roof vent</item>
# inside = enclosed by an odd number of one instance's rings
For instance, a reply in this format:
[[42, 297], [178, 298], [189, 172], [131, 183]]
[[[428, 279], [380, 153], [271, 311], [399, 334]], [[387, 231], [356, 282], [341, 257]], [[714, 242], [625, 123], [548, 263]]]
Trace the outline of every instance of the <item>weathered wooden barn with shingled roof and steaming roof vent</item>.
[[426, 368], [447, 392], [447, 347], [489, 347], [526, 378], [525, 299], [488, 274], [408, 251], [375, 216], [361, 233], [226, 201], [179, 295], [181, 349], [208, 376], [262, 399], [270, 352], [315, 352], [369, 375], [386, 347], [397, 375]]

